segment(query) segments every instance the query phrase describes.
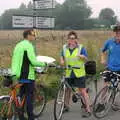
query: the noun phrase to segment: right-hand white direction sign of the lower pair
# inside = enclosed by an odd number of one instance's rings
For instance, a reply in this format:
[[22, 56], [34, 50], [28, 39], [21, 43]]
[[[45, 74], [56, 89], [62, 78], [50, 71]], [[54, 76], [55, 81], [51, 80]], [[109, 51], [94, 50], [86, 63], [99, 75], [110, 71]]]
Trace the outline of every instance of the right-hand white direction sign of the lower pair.
[[36, 28], [54, 28], [55, 18], [36, 17]]

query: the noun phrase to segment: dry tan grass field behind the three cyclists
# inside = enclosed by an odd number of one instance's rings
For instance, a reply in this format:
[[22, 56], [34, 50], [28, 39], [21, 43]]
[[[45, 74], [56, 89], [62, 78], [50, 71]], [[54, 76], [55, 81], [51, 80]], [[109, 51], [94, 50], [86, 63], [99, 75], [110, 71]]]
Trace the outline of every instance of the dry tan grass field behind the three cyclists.
[[[0, 31], [0, 66], [10, 65], [12, 50], [15, 44], [22, 39], [19, 30]], [[36, 47], [37, 53], [53, 56], [59, 61], [60, 49], [67, 40], [69, 31], [37, 31]], [[103, 42], [112, 36], [110, 31], [76, 31], [79, 43], [84, 44], [88, 50], [89, 59], [99, 63], [99, 53]], [[6, 64], [7, 63], [7, 64]]]

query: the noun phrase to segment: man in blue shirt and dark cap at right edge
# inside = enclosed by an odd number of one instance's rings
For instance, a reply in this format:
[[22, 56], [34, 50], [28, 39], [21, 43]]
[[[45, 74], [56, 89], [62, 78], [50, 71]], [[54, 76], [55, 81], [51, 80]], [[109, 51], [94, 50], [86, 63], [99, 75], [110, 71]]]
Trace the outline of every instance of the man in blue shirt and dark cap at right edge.
[[[107, 70], [120, 73], [120, 25], [113, 28], [114, 37], [108, 39], [102, 48], [101, 64], [107, 66]], [[104, 75], [105, 85], [109, 84], [109, 74]], [[104, 104], [99, 104], [97, 111], [102, 111]]]

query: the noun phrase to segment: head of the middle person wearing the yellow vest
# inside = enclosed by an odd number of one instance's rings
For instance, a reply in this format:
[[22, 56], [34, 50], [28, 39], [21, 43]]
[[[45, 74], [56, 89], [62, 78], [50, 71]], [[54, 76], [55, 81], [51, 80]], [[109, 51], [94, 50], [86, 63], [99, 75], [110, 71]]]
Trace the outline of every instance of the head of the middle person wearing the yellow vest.
[[68, 44], [71, 45], [71, 46], [76, 46], [77, 45], [77, 39], [78, 39], [78, 36], [77, 36], [77, 33], [75, 31], [70, 31], [68, 33]]

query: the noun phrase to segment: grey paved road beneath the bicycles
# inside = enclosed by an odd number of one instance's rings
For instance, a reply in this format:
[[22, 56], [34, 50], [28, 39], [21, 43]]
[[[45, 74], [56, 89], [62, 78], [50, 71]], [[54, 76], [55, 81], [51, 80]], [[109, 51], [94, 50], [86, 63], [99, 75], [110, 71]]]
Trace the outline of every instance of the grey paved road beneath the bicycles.
[[[102, 83], [98, 83], [98, 84], [100, 89]], [[94, 88], [93, 84], [90, 86], [90, 88]], [[93, 91], [94, 90], [90, 92], [91, 96], [93, 96], [92, 99], [94, 99], [95, 96], [95, 93]], [[89, 118], [82, 118], [81, 115], [82, 115], [82, 111], [80, 109], [80, 104], [71, 102], [70, 111], [68, 113], [63, 114], [62, 120], [97, 120], [93, 115]], [[42, 116], [39, 118], [39, 120], [54, 120], [53, 101], [50, 101], [47, 104], [46, 109], [43, 112]], [[115, 112], [111, 110], [109, 114], [101, 120], [120, 120], [120, 111]]]

